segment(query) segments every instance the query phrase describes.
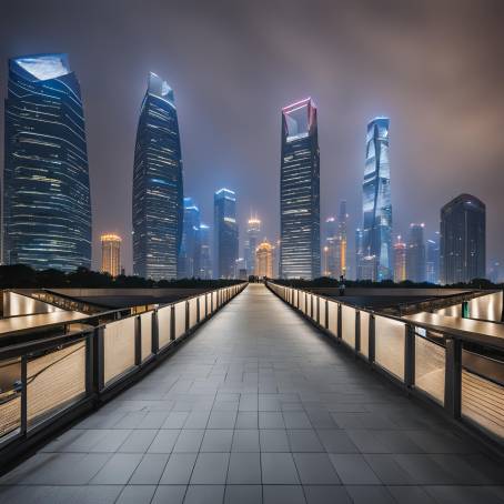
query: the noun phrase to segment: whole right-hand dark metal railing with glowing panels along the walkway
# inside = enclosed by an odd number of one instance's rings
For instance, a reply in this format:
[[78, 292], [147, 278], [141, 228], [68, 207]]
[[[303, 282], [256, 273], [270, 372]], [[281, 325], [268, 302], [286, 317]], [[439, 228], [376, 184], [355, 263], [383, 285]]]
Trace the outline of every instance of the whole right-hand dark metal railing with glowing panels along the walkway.
[[[284, 302], [410, 393], [504, 447], [504, 340], [407, 321], [266, 283]], [[475, 360], [475, 355], [477, 360]]]

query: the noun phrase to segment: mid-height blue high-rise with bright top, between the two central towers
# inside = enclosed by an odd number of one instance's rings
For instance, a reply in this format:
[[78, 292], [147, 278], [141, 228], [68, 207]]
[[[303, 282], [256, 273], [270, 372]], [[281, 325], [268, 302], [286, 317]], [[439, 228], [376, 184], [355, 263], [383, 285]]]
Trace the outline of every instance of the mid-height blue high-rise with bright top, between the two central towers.
[[218, 279], [232, 279], [235, 275], [238, 259], [236, 194], [229, 189], [220, 189], [213, 196], [214, 228], [214, 275]]

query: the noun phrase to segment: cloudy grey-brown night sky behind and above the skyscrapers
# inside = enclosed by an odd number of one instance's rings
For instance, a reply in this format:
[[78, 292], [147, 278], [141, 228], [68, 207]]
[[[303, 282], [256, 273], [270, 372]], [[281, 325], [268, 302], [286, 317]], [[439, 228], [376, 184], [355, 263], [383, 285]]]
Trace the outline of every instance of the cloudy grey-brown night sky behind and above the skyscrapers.
[[[71, 8], [70, 8], [71, 6]], [[0, 89], [7, 59], [67, 52], [81, 84], [99, 236], [119, 232], [131, 272], [134, 138], [147, 77], [173, 88], [184, 193], [213, 224], [213, 191], [238, 193], [279, 235], [281, 108], [319, 108], [321, 214], [349, 201], [361, 221], [366, 123], [391, 118], [394, 234], [461, 192], [486, 203], [487, 262], [504, 261], [504, 2], [501, 0], [39, 1], [0, 6]], [[3, 118], [3, 101], [0, 105]], [[3, 167], [3, 119], [0, 123]], [[353, 263], [352, 263], [353, 266]]]

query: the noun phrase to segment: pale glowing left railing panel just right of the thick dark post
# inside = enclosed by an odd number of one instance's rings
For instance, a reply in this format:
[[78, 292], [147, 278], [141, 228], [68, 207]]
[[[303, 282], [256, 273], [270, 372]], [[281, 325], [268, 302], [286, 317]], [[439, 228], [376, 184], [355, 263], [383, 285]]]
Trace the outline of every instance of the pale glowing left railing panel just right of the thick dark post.
[[134, 366], [134, 316], [107, 324], [103, 330], [104, 383]]

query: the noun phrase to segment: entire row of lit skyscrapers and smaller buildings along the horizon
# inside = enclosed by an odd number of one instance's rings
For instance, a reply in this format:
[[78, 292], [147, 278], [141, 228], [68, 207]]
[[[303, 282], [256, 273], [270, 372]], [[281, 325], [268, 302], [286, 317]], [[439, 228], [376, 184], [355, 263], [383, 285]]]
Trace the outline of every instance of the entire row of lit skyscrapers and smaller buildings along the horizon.
[[[9, 60], [6, 100], [2, 263], [64, 272], [91, 266], [91, 196], [80, 87], [65, 54]], [[184, 198], [183, 165], [173, 90], [149, 74], [141, 102], [132, 179], [133, 273], [177, 278], [321, 275], [357, 280], [456, 283], [484, 278], [485, 205], [461, 194], [441, 210], [429, 238], [412, 223], [394, 240], [390, 120], [373, 119], [365, 137], [362, 224], [355, 261], [347, 250], [349, 214], [342, 201], [321, 238], [317, 109], [311, 98], [281, 111], [280, 240], [262, 240], [254, 215], [239, 254], [236, 194], [214, 193], [213, 230]], [[104, 272], [121, 266], [121, 238], [101, 236]], [[354, 268], [354, 271], [351, 271]], [[495, 263], [492, 274], [500, 275]]]

